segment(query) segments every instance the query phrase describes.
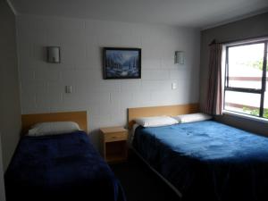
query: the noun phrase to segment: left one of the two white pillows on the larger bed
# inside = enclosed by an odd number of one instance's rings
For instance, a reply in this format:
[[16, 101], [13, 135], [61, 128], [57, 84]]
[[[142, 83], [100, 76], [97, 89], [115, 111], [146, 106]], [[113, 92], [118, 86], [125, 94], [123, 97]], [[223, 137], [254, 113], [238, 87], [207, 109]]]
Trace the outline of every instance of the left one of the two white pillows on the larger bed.
[[138, 125], [143, 127], [168, 126], [179, 123], [169, 116], [141, 117], [135, 120]]

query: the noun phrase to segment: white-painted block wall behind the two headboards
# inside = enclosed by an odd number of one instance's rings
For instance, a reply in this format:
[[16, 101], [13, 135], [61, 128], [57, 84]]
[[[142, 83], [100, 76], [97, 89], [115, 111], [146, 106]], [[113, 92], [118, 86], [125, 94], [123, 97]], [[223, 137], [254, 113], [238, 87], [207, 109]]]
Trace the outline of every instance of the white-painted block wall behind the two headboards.
[[[96, 147], [96, 130], [126, 125], [128, 107], [198, 102], [198, 30], [29, 15], [17, 24], [21, 112], [87, 110]], [[46, 46], [61, 46], [62, 63], [46, 63]], [[142, 48], [142, 79], [103, 80], [103, 46]], [[185, 51], [184, 65], [174, 64], [176, 50]]]

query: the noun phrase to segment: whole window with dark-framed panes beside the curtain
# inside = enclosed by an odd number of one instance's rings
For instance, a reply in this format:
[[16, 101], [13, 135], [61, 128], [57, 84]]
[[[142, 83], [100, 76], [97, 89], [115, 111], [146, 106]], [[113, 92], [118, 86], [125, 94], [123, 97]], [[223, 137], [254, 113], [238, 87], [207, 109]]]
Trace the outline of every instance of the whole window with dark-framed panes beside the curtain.
[[226, 46], [224, 110], [268, 119], [268, 40]]

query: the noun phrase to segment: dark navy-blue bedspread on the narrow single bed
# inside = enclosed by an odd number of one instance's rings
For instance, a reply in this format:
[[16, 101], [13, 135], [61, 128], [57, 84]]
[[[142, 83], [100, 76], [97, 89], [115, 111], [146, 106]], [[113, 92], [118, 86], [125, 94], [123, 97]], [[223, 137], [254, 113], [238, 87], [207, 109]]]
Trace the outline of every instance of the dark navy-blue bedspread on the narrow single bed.
[[5, 172], [7, 201], [125, 200], [87, 134], [23, 137]]

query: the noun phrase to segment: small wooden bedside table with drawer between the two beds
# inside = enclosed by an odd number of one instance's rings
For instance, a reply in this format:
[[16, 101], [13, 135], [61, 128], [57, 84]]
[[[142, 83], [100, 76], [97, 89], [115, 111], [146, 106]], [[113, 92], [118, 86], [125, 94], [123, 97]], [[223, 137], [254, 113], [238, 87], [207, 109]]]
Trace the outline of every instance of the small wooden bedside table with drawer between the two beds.
[[128, 130], [122, 127], [101, 128], [102, 150], [107, 163], [121, 162], [128, 158]]

